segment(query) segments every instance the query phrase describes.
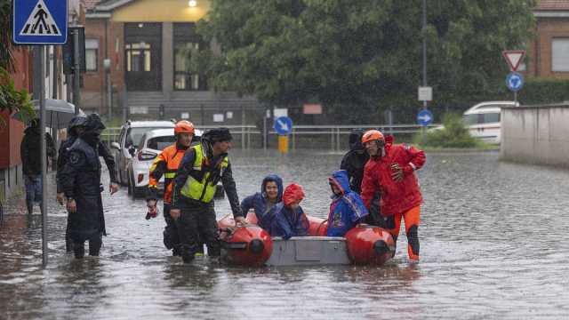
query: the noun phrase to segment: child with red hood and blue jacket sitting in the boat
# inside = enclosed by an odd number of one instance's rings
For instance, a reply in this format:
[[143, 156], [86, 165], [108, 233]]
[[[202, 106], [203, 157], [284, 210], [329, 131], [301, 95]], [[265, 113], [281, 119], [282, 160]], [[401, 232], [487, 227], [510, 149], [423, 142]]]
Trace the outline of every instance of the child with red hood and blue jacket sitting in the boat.
[[308, 236], [309, 220], [301, 207], [304, 191], [297, 184], [284, 189], [283, 202], [276, 204], [265, 219], [270, 236], [282, 236], [285, 240], [292, 236]]

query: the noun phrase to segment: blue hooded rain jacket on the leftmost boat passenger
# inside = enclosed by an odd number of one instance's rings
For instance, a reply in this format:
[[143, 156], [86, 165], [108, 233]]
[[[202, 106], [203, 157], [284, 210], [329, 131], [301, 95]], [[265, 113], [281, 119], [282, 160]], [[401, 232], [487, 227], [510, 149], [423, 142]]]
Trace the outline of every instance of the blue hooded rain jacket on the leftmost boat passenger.
[[254, 209], [255, 215], [257, 216], [258, 224], [260, 228], [268, 229], [270, 227], [270, 221], [266, 221], [265, 216], [271, 209], [268, 207], [268, 198], [265, 193], [265, 187], [269, 181], [275, 181], [278, 192], [276, 195], [276, 203], [283, 201], [283, 180], [278, 175], [271, 173], [268, 174], [263, 182], [260, 184], [260, 192], [255, 193], [252, 196], [247, 196], [241, 202], [241, 212], [244, 216], [247, 216], [249, 210]]

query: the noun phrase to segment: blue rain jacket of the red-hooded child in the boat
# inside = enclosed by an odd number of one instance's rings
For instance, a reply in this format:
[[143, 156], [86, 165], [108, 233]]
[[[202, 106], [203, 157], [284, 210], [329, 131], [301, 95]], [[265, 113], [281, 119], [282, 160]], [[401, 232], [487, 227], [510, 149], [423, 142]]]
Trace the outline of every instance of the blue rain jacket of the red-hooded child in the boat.
[[266, 219], [270, 220], [270, 236], [282, 236], [286, 240], [291, 236], [309, 235], [309, 219], [300, 206], [292, 210], [284, 206], [284, 203], [278, 203], [268, 212]]

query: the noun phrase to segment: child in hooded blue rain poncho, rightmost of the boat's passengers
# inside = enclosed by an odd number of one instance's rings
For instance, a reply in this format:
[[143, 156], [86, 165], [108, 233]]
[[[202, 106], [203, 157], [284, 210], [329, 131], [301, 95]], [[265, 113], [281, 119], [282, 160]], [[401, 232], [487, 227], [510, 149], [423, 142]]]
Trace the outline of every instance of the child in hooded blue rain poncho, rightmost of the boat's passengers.
[[328, 213], [326, 236], [344, 236], [368, 215], [362, 198], [349, 188], [348, 172], [339, 170], [328, 178], [332, 204]]

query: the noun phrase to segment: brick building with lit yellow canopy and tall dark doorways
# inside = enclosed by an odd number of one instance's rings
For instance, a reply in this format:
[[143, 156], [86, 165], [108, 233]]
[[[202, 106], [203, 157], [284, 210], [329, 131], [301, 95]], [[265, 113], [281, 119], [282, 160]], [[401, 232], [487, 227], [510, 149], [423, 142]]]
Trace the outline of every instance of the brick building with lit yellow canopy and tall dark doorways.
[[254, 97], [213, 92], [204, 76], [188, 71], [191, 52], [215, 49], [196, 35], [195, 23], [209, 7], [206, 0], [106, 0], [87, 7], [82, 108], [106, 114], [112, 101], [115, 116], [125, 106], [134, 119], [249, 120], [259, 107]]

